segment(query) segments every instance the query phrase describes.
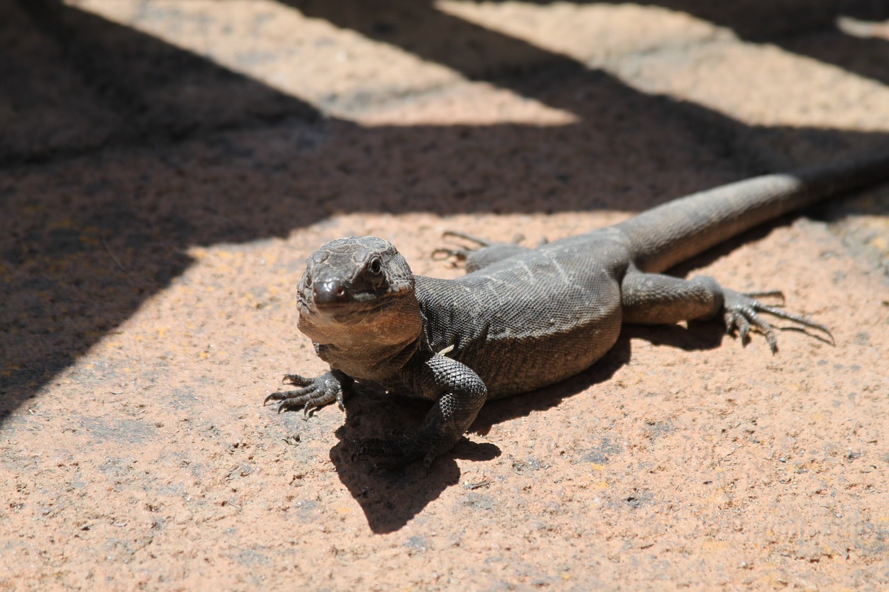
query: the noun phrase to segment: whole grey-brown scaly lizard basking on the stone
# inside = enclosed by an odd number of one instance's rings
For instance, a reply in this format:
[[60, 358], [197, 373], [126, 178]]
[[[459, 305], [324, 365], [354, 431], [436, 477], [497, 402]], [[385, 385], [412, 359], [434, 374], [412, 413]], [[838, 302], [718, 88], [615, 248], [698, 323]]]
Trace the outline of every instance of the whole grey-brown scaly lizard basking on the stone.
[[[565, 380], [613, 347], [621, 324], [674, 324], [721, 317], [749, 342], [777, 351], [777, 316], [833, 337], [822, 324], [762, 302], [781, 292], [736, 292], [709, 276], [663, 272], [768, 220], [889, 180], [889, 154], [766, 174], [680, 197], [607, 228], [536, 248], [492, 244], [454, 252], [456, 279], [414, 276], [396, 247], [347, 236], [312, 253], [298, 285], [298, 329], [330, 371], [284, 375], [278, 412], [344, 402], [353, 383], [432, 401], [412, 435], [368, 438], [355, 454], [397, 468], [428, 469], [469, 429], [486, 401]], [[456, 233], [455, 233], [456, 234]], [[469, 236], [465, 236], [472, 238]]]

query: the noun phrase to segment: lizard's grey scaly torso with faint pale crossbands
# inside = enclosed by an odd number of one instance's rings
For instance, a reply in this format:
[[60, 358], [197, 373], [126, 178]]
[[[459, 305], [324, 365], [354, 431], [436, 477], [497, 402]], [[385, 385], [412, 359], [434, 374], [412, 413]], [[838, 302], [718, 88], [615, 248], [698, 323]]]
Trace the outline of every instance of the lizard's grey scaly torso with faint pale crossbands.
[[621, 331], [626, 252], [605, 232], [570, 236], [454, 280], [417, 277], [430, 347], [467, 364], [488, 398], [582, 372]]

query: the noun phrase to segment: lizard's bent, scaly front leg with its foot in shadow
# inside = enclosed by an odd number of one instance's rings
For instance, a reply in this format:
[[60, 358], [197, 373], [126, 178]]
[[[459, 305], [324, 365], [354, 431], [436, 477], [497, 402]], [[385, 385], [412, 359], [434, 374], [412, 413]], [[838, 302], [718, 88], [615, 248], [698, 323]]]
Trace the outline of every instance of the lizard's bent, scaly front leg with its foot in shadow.
[[364, 440], [356, 453], [386, 457], [377, 461], [380, 468], [399, 468], [420, 459], [428, 468], [436, 456], [451, 450], [476, 420], [487, 399], [487, 388], [469, 366], [432, 354], [406, 364], [401, 380], [412, 395], [435, 400], [420, 429], [414, 436]]

